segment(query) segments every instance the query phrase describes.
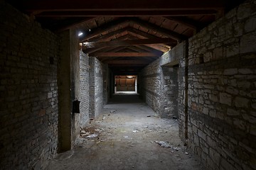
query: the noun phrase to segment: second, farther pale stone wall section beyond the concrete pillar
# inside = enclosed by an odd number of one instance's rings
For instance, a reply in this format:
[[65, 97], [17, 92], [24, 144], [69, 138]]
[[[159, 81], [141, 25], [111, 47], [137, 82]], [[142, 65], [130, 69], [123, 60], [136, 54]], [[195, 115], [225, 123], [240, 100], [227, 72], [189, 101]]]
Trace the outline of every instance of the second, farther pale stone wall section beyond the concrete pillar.
[[103, 67], [104, 65], [96, 57], [89, 58], [89, 117], [95, 118], [103, 107]]

